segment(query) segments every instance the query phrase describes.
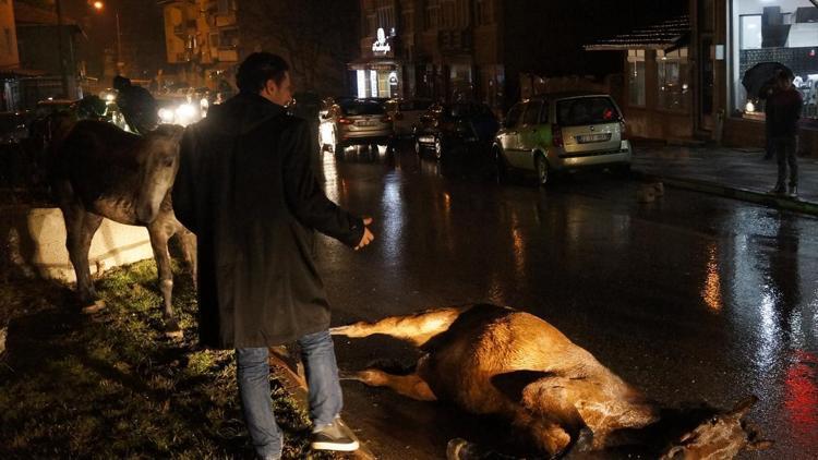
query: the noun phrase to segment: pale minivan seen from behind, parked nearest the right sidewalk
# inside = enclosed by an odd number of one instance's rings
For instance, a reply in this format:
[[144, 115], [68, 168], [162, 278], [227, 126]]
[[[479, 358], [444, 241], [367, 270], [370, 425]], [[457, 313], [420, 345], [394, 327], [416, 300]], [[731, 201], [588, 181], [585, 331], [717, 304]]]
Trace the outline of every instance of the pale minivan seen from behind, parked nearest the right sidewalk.
[[541, 185], [552, 171], [586, 167], [629, 170], [625, 119], [606, 94], [555, 93], [510, 108], [493, 147], [497, 177], [534, 171]]

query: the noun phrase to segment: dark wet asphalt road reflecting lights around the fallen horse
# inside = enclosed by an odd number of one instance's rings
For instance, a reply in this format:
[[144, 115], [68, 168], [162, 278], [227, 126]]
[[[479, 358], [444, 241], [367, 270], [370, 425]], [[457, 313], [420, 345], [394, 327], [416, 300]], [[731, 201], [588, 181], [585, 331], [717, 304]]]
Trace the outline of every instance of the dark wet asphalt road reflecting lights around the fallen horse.
[[[550, 322], [667, 405], [749, 414], [772, 449], [743, 458], [818, 456], [818, 221], [597, 172], [548, 190], [496, 185], [409, 149], [325, 154], [327, 195], [375, 219], [356, 253], [322, 238], [334, 325], [435, 306], [492, 302]], [[341, 371], [411, 364], [392, 339], [337, 339]], [[496, 435], [442, 403], [345, 382], [345, 416], [383, 459], [445, 458], [455, 436]], [[489, 426], [489, 427], [486, 427]]]

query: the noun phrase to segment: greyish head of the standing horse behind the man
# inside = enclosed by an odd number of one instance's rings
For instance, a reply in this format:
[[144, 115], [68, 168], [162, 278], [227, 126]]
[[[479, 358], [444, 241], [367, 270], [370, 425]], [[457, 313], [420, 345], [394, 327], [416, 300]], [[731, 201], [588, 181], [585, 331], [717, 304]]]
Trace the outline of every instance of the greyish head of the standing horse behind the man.
[[156, 218], [165, 196], [173, 185], [179, 169], [179, 141], [183, 131], [182, 126], [164, 124], [147, 133], [141, 141], [136, 217], [143, 223]]

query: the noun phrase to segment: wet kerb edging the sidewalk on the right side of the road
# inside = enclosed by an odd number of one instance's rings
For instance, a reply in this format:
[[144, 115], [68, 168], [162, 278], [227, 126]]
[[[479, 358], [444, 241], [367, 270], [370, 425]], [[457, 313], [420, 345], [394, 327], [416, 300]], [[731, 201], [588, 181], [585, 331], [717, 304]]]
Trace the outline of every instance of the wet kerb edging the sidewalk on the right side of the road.
[[701, 181], [697, 179], [679, 178], [673, 175], [652, 174], [645, 171], [633, 170], [636, 179], [647, 182], [662, 182], [676, 189], [690, 190], [694, 192], [719, 195], [725, 198], [739, 199], [777, 209], [818, 216], [818, 204], [803, 202], [797, 198], [775, 196], [769, 193], [756, 192], [747, 189], [726, 186], [715, 182]]

